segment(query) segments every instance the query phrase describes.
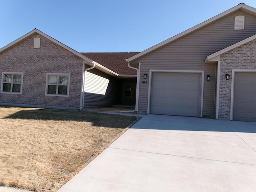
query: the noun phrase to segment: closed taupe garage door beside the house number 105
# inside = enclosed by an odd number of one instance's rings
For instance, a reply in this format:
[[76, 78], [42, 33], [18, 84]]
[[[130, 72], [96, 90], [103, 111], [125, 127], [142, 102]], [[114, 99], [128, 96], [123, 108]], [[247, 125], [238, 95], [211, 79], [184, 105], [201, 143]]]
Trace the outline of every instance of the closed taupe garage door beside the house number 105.
[[153, 72], [150, 113], [200, 116], [200, 73]]

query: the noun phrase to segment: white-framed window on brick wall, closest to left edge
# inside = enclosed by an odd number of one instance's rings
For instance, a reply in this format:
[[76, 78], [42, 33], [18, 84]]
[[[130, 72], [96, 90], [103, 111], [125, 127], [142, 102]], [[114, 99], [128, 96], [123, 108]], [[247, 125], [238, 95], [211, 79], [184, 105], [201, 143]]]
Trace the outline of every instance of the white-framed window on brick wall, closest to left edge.
[[2, 72], [1, 93], [22, 94], [23, 73]]

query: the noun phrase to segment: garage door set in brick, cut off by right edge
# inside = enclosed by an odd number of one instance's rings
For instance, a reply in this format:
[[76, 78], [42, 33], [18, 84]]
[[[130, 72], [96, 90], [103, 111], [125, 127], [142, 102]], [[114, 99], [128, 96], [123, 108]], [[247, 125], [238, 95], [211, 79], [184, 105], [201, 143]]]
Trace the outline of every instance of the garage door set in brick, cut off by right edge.
[[256, 73], [235, 73], [233, 119], [256, 121]]

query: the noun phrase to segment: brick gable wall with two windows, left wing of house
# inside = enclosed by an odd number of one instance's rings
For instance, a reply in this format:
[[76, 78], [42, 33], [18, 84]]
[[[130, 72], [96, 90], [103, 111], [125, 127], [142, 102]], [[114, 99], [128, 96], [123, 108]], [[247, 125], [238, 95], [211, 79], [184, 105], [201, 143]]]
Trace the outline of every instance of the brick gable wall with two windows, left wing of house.
[[[34, 38], [40, 48], [34, 49]], [[2, 72], [24, 72], [22, 94], [0, 93], [0, 103], [79, 108], [83, 59], [34, 34], [0, 54], [0, 86]], [[46, 96], [46, 73], [70, 74], [69, 96]]]

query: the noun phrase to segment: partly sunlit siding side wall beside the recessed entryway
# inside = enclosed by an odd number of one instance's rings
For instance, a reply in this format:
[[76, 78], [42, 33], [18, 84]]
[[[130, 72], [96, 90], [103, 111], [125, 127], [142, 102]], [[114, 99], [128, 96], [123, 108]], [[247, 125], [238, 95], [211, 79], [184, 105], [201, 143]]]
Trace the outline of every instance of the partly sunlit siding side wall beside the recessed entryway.
[[117, 95], [116, 79], [93, 69], [86, 72], [84, 107], [111, 106]]

